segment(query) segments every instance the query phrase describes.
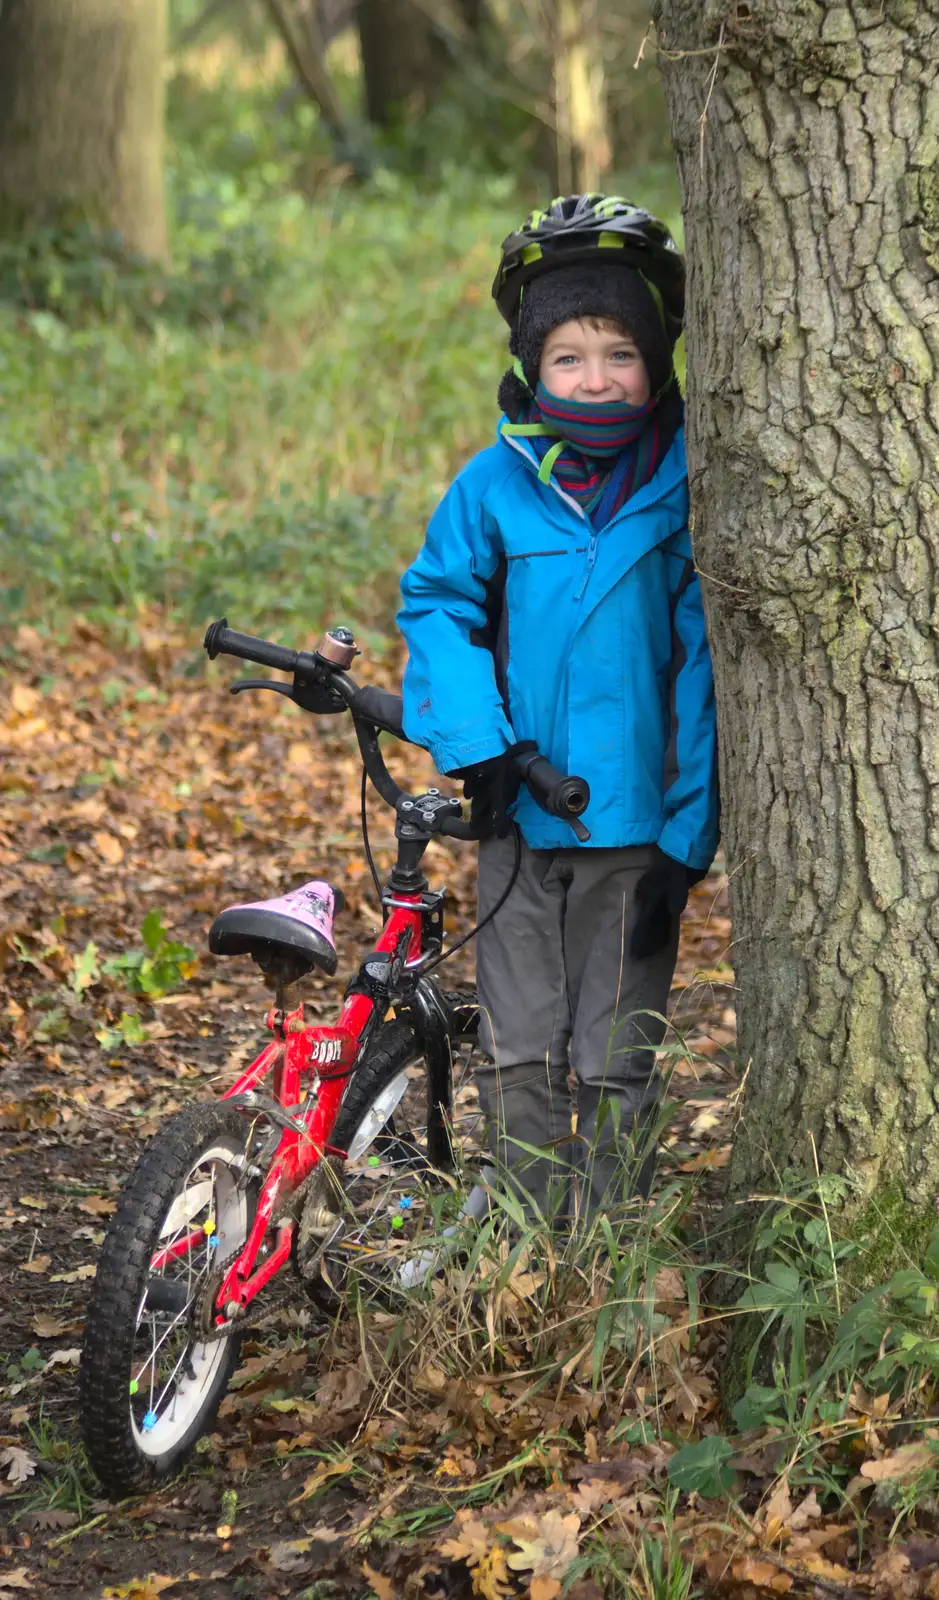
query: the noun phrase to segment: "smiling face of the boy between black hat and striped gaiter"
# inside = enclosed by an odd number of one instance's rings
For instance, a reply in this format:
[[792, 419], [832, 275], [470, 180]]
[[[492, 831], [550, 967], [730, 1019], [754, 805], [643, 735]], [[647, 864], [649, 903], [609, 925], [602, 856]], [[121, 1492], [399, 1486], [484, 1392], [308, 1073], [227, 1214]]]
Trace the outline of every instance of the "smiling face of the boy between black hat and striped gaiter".
[[544, 341], [537, 371], [558, 400], [645, 405], [649, 374], [632, 334], [613, 322], [561, 322]]

